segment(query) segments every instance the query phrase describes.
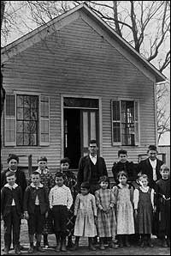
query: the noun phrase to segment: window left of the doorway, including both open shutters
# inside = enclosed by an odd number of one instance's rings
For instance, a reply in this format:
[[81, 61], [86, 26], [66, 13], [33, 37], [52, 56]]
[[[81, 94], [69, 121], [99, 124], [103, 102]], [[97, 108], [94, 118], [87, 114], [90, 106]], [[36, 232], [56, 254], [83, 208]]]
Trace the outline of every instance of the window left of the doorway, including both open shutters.
[[7, 94], [4, 133], [6, 146], [48, 145], [49, 97]]

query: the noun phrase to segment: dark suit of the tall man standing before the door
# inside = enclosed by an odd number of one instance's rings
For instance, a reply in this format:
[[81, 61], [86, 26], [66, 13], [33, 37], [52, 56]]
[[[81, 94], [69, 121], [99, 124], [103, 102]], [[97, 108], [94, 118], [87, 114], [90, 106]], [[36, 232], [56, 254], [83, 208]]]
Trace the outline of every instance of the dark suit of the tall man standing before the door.
[[[79, 171], [77, 174], [77, 186], [80, 190], [80, 185], [82, 182], [88, 181], [91, 184], [91, 192], [93, 193], [96, 190], [96, 187], [98, 186], [97, 182], [96, 184], [92, 184], [92, 163], [91, 158], [89, 155], [83, 156], [80, 158], [79, 163]], [[106, 175], [108, 176], [106, 164], [104, 162], [103, 157], [97, 156], [97, 179], [100, 178], [100, 176]], [[92, 188], [92, 186], [94, 186]]]

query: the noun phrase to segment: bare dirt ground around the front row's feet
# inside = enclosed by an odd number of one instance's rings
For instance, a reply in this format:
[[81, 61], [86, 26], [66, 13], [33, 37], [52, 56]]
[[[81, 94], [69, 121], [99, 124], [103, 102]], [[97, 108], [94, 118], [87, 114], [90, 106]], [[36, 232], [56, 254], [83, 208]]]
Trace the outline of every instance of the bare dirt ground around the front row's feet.
[[[154, 244], [153, 248], [144, 247], [141, 248], [138, 245], [133, 245], [132, 247], [123, 247], [112, 249], [106, 247], [104, 251], [99, 250], [98, 245], [97, 251], [89, 251], [87, 247], [87, 239], [80, 239], [80, 248], [78, 251], [68, 251], [56, 253], [54, 248], [56, 247], [55, 235], [49, 235], [50, 248], [45, 249], [45, 253], [32, 253], [29, 255], [170, 255], [170, 248], [163, 248], [160, 246], [160, 241], [156, 239], [156, 236], [152, 237], [152, 242]], [[21, 224], [21, 245], [26, 247], [25, 250], [21, 251], [21, 255], [28, 255], [27, 249], [29, 247], [28, 235], [27, 235], [27, 221], [22, 220]], [[1, 255], [3, 255], [3, 221], [1, 222]], [[15, 255], [14, 250], [10, 250], [9, 255]]]

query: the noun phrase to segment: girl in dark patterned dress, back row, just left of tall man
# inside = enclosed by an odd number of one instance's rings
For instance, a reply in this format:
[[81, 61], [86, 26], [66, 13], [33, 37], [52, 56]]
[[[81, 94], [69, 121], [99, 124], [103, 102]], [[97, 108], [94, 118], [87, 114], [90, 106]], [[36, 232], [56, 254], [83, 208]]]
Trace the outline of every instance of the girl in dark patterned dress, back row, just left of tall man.
[[76, 191], [77, 181], [76, 181], [75, 174], [71, 170], [69, 170], [69, 166], [70, 166], [69, 158], [68, 157], [62, 158], [60, 164], [61, 164], [61, 172], [64, 178], [64, 185], [68, 186], [73, 197], [73, 204], [71, 208], [68, 210], [68, 222], [67, 222], [68, 248], [71, 248], [74, 246], [72, 242], [72, 235], [74, 235], [74, 220], [75, 220], [74, 201], [77, 195], [77, 191]]

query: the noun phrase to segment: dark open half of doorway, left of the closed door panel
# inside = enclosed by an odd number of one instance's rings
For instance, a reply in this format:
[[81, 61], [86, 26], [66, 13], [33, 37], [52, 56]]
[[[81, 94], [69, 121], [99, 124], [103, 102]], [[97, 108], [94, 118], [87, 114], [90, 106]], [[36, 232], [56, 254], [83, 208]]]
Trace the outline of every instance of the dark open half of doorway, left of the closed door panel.
[[80, 109], [64, 109], [64, 157], [71, 161], [70, 168], [77, 169], [80, 161]]

